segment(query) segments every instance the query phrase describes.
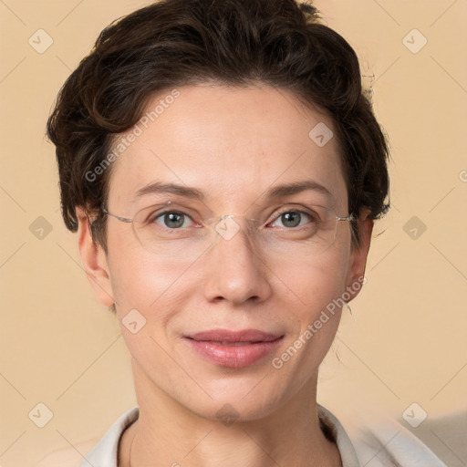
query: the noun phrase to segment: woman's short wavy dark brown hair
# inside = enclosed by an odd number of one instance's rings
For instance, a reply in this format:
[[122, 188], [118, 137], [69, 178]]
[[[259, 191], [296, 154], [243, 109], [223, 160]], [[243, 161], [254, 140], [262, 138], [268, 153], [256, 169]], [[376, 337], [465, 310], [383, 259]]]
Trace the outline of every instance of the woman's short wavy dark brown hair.
[[[48, 122], [57, 147], [62, 213], [78, 229], [77, 206], [97, 213], [106, 250], [109, 170], [89, 181], [116, 135], [130, 130], [164, 89], [262, 82], [292, 91], [333, 119], [348, 187], [348, 211], [389, 208], [386, 138], [362, 90], [358, 57], [294, 0], [161, 0], [106, 27], [67, 78]], [[357, 235], [355, 224], [353, 233]], [[356, 236], [358, 243], [358, 236]]]

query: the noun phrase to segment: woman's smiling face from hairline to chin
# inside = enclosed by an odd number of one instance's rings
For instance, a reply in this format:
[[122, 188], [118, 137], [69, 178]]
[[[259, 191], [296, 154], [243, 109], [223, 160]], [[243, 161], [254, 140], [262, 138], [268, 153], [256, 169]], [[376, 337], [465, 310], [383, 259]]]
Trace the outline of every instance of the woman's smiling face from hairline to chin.
[[332, 219], [348, 196], [326, 115], [266, 86], [178, 92], [121, 135], [137, 134], [114, 162], [108, 210], [135, 220], [109, 216], [108, 254], [88, 274], [116, 303], [141, 390], [206, 418], [229, 404], [259, 419], [316, 385], [369, 235], [352, 249], [349, 223]]

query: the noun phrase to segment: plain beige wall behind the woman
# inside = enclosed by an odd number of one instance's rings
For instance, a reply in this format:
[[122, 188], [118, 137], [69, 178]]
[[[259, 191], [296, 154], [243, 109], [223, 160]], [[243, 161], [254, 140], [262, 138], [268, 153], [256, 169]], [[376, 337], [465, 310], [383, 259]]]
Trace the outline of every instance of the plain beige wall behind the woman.
[[[129, 354], [61, 220], [54, 148], [43, 135], [58, 88], [99, 31], [146, 4], [0, 1], [2, 467], [34, 465], [61, 449], [78, 463], [135, 405]], [[322, 368], [318, 401], [349, 427], [376, 408], [450, 466], [467, 465], [467, 2], [316, 5], [356, 47], [363, 74], [374, 74], [393, 203], [377, 227], [385, 232], [373, 241], [368, 283]], [[42, 54], [28, 44], [40, 28], [53, 38]], [[428, 40], [418, 53], [406, 47], [422, 44], [414, 28]], [[51, 228], [42, 239], [39, 216]], [[53, 412], [44, 428], [28, 418], [39, 402]], [[413, 402], [428, 413], [416, 429], [401, 418]]]

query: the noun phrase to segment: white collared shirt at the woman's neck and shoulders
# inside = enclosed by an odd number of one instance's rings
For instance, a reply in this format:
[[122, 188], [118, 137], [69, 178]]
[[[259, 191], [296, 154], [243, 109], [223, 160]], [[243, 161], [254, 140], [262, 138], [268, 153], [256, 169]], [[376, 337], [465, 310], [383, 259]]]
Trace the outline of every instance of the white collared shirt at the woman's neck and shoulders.
[[[418, 438], [401, 425], [372, 427], [354, 442], [340, 421], [317, 404], [320, 422], [332, 433], [343, 467], [447, 467]], [[88, 453], [80, 467], [118, 467], [120, 437], [140, 415], [138, 407], [123, 413]], [[325, 433], [326, 434], [326, 433]]]

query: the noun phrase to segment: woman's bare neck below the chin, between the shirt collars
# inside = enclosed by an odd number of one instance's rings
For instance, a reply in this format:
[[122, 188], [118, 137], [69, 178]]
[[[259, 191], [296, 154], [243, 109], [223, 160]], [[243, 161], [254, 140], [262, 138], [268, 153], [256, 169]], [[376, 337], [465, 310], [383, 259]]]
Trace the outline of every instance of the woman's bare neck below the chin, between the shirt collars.
[[[138, 369], [133, 371], [138, 372]], [[140, 417], [124, 432], [119, 467], [341, 467], [317, 417], [317, 377], [262, 420], [205, 419], [135, 374]]]

